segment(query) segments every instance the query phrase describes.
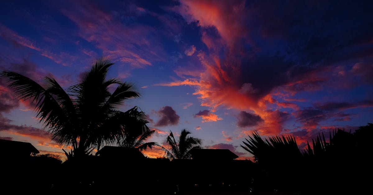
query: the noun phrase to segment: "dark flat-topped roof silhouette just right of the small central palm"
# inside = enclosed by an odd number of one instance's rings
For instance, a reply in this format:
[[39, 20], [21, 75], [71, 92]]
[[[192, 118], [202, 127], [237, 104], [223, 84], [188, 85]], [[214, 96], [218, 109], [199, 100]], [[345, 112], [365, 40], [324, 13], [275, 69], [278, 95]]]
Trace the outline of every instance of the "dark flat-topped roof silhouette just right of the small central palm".
[[229, 149], [193, 149], [190, 151], [195, 160], [234, 160], [238, 158]]

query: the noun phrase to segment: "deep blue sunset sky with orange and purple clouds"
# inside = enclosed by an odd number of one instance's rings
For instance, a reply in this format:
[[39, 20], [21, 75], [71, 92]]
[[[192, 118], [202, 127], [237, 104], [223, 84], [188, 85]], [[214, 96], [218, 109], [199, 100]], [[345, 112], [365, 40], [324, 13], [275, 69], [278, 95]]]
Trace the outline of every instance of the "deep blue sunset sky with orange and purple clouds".
[[[182, 129], [203, 148], [252, 155], [253, 131], [293, 135], [373, 122], [373, 2], [343, 0], [0, 1], [0, 69], [67, 88], [108, 56], [136, 83], [160, 144]], [[0, 139], [64, 156], [0, 79]], [[150, 158], [164, 152], [153, 148]]]

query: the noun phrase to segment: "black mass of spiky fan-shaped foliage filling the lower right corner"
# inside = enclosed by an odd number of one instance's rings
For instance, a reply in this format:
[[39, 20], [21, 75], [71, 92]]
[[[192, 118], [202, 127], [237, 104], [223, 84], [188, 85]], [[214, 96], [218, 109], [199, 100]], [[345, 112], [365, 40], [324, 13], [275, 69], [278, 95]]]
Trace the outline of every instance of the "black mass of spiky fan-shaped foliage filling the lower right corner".
[[359, 194], [369, 190], [373, 124], [354, 133], [338, 129], [328, 137], [327, 142], [319, 134], [300, 151], [293, 136], [263, 140], [253, 133], [241, 146], [254, 155], [259, 167], [254, 176], [256, 191]]

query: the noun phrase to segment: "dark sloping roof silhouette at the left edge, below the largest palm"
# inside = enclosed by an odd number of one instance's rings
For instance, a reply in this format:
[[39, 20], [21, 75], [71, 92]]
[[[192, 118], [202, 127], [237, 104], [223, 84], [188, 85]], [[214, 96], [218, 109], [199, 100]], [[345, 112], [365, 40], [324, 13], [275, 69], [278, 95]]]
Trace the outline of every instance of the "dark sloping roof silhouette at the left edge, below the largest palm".
[[0, 154], [7, 156], [29, 156], [40, 153], [31, 143], [0, 139]]

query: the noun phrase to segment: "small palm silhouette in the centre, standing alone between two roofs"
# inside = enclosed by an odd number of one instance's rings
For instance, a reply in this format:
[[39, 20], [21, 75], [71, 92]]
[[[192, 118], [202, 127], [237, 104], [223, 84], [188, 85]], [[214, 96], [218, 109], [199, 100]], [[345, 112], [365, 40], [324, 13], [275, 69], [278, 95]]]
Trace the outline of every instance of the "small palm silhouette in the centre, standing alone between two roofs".
[[170, 150], [162, 147], [164, 150], [164, 154], [166, 154], [167, 158], [171, 160], [174, 158], [177, 159], [188, 159], [191, 158], [190, 151], [192, 149], [201, 149], [201, 139], [190, 137], [188, 134], [191, 134], [186, 129], [181, 131], [180, 137], [178, 142], [176, 142], [175, 137], [173, 136], [172, 131], [166, 137], [166, 142], [170, 146]]

